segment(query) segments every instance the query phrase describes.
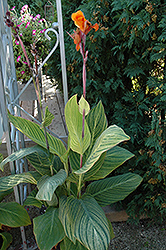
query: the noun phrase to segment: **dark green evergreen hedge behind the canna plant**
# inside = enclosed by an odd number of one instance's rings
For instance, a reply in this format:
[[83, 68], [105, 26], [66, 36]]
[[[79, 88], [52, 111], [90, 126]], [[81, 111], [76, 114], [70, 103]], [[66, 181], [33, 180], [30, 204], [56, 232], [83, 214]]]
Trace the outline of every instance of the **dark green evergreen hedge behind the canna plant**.
[[[165, 1], [160, 0], [149, 2], [84, 0], [76, 3], [62, 1], [64, 28], [71, 34], [74, 28], [70, 22], [71, 14], [78, 9], [84, 12], [92, 24], [96, 22], [99, 24], [98, 32], [91, 31], [91, 35], [87, 37], [89, 53], [86, 97], [92, 107], [101, 100], [109, 124], [117, 124], [131, 138], [127, 144], [125, 143], [125, 147], [136, 157], [116, 173], [131, 171], [144, 178], [137, 193], [125, 200], [129, 215], [135, 218], [142, 213], [153, 219], [163, 219], [165, 216], [166, 15], [164, 6]], [[75, 49], [75, 44], [71, 43], [71, 37], [65, 34], [69, 95], [77, 93], [81, 96], [82, 60]], [[56, 62], [57, 67], [52, 67], [50, 74], [56, 76], [62, 89], [59, 52], [56, 53], [52, 65]], [[151, 122], [154, 119], [154, 111], [158, 114], [155, 116], [155, 123], [159, 124], [162, 131], [161, 138], [149, 136], [153, 130]], [[155, 151], [153, 157], [149, 157], [148, 153], [151, 148]], [[146, 178], [146, 173], [150, 173], [152, 169], [157, 179], [156, 192], [152, 191], [156, 186], [152, 188], [153, 184]], [[145, 200], [147, 197], [151, 199], [154, 194], [157, 202], [150, 200], [151, 205], [147, 206]]]

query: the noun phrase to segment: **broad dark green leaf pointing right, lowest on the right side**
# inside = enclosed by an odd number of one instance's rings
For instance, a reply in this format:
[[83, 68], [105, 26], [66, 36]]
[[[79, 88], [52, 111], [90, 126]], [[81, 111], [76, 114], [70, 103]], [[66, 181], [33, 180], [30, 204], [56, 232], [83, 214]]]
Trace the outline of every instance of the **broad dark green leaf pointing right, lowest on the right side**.
[[86, 194], [90, 194], [100, 206], [104, 207], [123, 200], [138, 187], [141, 181], [142, 178], [137, 174], [122, 174], [92, 182], [87, 187]]

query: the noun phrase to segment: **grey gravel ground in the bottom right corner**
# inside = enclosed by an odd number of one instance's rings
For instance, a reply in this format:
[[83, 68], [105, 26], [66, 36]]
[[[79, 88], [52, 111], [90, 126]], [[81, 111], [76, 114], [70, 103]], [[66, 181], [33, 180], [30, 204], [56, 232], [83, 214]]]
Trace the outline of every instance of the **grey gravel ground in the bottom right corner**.
[[109, 250], [166, 250], [166, 222], [162, 225], [149, 225], [148, 220], [139, 225], [126, 222], [112, 223], [115, 238]]

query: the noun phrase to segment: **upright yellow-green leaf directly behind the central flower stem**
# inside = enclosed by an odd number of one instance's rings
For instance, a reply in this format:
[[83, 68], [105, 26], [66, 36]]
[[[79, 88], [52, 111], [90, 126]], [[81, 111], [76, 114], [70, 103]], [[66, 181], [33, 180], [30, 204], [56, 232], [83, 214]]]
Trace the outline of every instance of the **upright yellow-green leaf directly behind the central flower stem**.
[[88, 125], [84, 124], [84, 139], [82, 139], [83, 116], [79, 112], [77, 95], [67, 102], [65, 107], [65, 120], [70, 135], [70, 147], [78, 154], [83, 154], [90, 145], [91, 135]]

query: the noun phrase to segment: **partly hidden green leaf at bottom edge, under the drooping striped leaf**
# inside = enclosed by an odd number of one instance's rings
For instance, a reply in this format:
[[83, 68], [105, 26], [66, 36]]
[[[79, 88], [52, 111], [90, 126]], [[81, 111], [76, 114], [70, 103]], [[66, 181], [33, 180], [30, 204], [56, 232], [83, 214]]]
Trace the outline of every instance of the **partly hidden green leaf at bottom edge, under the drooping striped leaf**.
[[87, 250], [79, 241], [76, 241], [74, 244], [69, 238], [65, 237], [64, 240], [60, 243], [61, 250]]

